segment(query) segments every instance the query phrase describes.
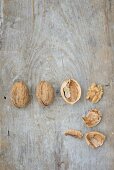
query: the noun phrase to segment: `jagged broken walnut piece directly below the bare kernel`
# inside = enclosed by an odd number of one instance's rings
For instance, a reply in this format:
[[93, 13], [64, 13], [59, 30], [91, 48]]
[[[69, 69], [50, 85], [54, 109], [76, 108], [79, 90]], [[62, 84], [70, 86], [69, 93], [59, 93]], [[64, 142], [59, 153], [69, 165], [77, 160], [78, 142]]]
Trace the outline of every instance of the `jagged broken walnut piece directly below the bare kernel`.
[[82, 117], [87, 127], [91, 128], [96, 126], [101, 121], [101, 113], [97, 109], [92, 109], [85, 117]]

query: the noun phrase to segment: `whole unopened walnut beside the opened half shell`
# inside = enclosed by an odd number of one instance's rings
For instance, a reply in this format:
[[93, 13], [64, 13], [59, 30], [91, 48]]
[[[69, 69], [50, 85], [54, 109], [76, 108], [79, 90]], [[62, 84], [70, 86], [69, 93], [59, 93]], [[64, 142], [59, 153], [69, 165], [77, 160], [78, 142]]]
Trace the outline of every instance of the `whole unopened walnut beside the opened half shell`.
[[41, 104], [50, 105], [55, 97], [53, 86], [47, 81], [41, 81], [36, 87], [36, 97]]

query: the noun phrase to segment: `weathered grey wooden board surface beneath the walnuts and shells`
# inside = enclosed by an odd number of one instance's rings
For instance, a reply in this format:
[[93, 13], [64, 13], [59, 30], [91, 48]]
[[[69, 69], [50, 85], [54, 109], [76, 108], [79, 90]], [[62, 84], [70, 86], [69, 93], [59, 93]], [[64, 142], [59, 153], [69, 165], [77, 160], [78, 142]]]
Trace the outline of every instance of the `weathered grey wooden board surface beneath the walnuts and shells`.
[[[0, 0], [0, 170], [114, 170], [114, 0]], [[70, 106], [60, 85], [75, 78], [81, 100]], [[14, 81], [31, 91], [25, 109], [10, 104]], [[50, 81], [56, 98], [40, 106], [35, 87]], [[98, 104], [85, 100], [92, 82], [104, 86]], [[5, 98], [6, 97], [6, 98]], [[82, 116], [90, 108], [103, 113], [88, 129]], [[68, 128], [107, 136], [96, 150], [65, 137]]]

